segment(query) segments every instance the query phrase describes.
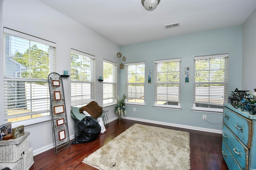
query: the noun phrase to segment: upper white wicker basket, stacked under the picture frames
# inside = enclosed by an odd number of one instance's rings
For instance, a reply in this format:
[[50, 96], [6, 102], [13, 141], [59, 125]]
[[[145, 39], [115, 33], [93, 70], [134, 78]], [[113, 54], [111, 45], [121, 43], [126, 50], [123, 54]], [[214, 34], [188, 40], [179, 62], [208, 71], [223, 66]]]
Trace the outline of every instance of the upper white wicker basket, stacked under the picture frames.
[[0, 162], [17, 162], [23, 155], [27, 154], [28, 135], [25, 132], [23, 136], [17, 139], [10, 139], [0, 142]]

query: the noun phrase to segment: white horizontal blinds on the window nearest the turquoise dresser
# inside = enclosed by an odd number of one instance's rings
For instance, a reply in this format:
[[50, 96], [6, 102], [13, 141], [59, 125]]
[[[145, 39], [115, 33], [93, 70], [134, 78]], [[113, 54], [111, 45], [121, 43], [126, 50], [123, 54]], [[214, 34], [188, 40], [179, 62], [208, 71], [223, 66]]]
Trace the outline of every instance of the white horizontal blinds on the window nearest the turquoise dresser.
[[228, 54], [194, 57], [194, 103], [228, 102]]

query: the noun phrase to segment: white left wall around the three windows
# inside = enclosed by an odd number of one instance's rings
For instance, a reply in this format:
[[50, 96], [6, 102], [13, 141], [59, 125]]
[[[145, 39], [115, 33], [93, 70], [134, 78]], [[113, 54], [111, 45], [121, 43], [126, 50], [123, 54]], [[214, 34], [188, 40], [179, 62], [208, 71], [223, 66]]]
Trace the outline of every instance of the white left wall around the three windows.
[[[56, 72], [59, 74], [63, 74], [64, 70], [68, 70], [70, 73], [70, 48], [96, 56], [96, 79], [103, 75], [103, 59], [118, 63], [116, 57], [116, 53], [119, 51], [118, 45], [38, 0], [1, 0], [0, 18], [1, 32], [3, 32], [3, 27], [6, 27], [56, 43]], [[3, 40], [2, 34], [0, 34], [0, 40]], [[0, 41], [0, 46], [0, 65], [3, 65], [2, 41]], [[0, 68], [2, 69], [2, 66]], [[74, 120], [69, 116], [70, 77], [63, 79], [63, 83], [70, 136], [74, 137]], [[103, 101], [102, 85], [102, 82], [96, 81], [95, 101], [100, 106], [102, 106]], [[0, 74], [0, 96], [3, 96], [3, 74]], [[2, 98], [0, 98], [0, 105], [4, 105]], [[109, 120], [116, 118], [114, 106], [104, 109], [109, 110]], [[0, 125], [3, 123], [4, 110], [3, 107], [0, 107]], [[16, 127], [15, 123], [12, 126]], [[30, 132], [28, 136], [29, 146], [33, 148], [34, 154], [48, 150], [53, 146], [50, 121], [25, 126], [25, 131]]]

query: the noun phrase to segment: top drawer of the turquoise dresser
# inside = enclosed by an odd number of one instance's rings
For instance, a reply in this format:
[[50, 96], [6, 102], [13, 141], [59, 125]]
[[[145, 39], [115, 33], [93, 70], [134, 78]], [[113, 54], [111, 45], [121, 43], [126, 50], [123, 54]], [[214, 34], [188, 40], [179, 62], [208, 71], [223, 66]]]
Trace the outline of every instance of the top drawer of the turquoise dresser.
[[223, 122], [247, 148], [250, 148], [252, 121], [224, 107]]

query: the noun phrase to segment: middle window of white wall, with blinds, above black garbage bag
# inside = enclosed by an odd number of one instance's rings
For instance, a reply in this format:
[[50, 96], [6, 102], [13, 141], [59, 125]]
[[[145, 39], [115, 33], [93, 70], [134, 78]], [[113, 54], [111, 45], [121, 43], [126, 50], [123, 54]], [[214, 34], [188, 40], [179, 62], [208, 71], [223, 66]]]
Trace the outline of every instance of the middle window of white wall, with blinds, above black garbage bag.
[[71, 105], [95, 100], [95, 56], [71, 49]]

